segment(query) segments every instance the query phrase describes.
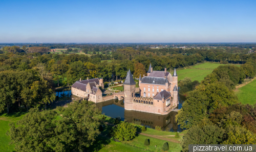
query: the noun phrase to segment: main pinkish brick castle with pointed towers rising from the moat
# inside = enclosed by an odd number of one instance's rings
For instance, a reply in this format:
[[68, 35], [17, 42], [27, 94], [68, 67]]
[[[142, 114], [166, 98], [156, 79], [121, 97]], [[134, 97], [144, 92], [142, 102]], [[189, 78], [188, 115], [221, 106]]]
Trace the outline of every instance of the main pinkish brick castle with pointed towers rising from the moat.
[[178, 105], [178, 76], [164, 71], [153, 71], [150, 68], [147, 76], [139, 78], [139, 96], [135, 96], [136, 82], [129, 69], [124, 81], [125, 110], [140, 111], [166, 115]]

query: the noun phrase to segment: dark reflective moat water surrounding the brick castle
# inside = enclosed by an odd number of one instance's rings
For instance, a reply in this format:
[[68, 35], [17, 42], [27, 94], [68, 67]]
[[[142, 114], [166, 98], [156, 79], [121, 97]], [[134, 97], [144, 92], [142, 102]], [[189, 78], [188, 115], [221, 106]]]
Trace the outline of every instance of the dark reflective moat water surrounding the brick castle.
[[[71, 100], [71, 91], [56, 92], [56, 96], [60, 100]], [[185, 97], [179, 95], [178, 108], [182, 107]], [[175, 121], [175, 116], [177, 112], [170, 112], [167, 115], [156, 115], [150, 113], [142, 113], [137, 111], [126, 111], [124, 110], [123, 100], [113, 99], [101, 103], [97, 103], [96, 107], [102, 112], [102, 114], [116, 118], [120, 117], [121, 120], [126, 120], [127, 122], [140, 122], [146, 127], [155, 128], [155, 126], [161, 126], [161, 128], [168, 127], [170, 132], [181, 132], [182, 129]]]

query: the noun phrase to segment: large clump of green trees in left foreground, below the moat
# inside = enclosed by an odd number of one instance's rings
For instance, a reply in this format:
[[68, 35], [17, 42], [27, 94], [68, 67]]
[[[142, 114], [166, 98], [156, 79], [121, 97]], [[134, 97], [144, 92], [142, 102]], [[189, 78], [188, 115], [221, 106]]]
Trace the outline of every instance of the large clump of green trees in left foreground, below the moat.
[[[61, 114], [62, 119], [56, 119]], [[10, 123], [8, 135], [17, 151], [71, 151], [83, 150], [99, 135], [99, 110], [91, 103], [75, 101], [57, 111], [40, 112], [31, 108], [30, 113], [16, 125]], [[39, 135], [39, 136], [38, 136]]]

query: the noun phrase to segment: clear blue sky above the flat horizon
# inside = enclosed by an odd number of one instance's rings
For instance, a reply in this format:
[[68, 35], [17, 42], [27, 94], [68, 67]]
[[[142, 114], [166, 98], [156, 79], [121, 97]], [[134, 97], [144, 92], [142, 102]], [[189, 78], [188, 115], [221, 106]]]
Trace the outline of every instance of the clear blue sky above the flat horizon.
[[0, 43], [256, 42], [255, 6], [255, 0], [0, 0]]

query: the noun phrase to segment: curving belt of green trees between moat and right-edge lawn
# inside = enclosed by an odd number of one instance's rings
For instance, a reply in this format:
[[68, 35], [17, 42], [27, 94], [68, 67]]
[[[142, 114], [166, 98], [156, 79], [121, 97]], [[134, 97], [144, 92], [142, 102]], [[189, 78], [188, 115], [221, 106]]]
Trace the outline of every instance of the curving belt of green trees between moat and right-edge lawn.
[[196, 125], [219, 106], [237, 103], [236, 97], [222, 83], [200, 84], [197, 89], [188, 93], [186, 102], [176, 115], [181, 127], [189, 128]]

